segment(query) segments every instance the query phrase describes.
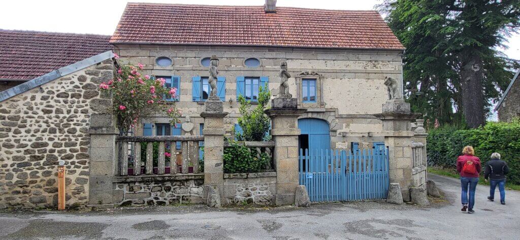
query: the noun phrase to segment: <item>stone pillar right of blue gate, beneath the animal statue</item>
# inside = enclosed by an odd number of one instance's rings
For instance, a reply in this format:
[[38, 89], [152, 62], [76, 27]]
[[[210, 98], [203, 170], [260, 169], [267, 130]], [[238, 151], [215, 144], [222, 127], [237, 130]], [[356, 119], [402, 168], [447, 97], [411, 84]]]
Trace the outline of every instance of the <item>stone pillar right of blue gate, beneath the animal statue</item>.
[[410, 103], [402, 99], [387, 100], [383, 112], [374, 114], [383, 122], [385, 145], [388, 146], [390, 182], [399, 183], [402, 198], [410, 201], [412, 184], [412, 140], [411, 121], [420, 113], [410, 111]]

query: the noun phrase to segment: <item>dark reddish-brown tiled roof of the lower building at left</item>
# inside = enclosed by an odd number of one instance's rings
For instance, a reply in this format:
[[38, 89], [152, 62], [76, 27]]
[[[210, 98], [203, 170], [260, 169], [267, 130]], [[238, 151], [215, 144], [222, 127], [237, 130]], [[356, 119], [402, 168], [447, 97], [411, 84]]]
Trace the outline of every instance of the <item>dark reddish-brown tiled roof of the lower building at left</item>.
[[33, 79], [112, 50], [110, 36], [0, 30], [0, 79]]

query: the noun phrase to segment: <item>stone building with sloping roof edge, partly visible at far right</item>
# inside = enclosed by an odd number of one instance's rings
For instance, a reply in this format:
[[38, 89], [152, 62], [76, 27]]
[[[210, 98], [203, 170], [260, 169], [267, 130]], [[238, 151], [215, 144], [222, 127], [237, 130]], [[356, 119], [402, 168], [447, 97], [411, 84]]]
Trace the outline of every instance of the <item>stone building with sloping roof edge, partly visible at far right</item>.
[[505, 89], [502, 98], [495, 107], [498, 111], [498, 120], [501, 122], [511, 122], [513, 118], [520, 117], [520, 70], [511, 79], [508, 88]]

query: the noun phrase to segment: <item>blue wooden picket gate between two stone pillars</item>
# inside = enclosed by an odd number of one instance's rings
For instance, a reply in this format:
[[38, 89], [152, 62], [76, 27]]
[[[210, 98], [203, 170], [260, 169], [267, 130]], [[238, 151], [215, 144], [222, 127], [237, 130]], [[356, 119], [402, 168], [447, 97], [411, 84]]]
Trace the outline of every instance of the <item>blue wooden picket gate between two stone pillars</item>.
[[311, 202], [386, 199], [388, 149], [300, 149], [300, 184]]

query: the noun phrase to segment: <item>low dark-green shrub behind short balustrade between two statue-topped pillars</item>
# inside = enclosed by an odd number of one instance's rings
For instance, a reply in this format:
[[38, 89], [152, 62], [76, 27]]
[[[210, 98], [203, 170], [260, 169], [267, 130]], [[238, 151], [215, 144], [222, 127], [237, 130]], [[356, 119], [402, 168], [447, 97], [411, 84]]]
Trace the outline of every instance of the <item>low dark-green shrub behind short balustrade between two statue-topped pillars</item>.
[[224, 149], [224, 172], [234, 174], [236, 172], [259, 172], [268, 165], [271, 158], [266, 153], [257, 157], [256, 151], [236, 141], [230, 141], [229, 147]]

